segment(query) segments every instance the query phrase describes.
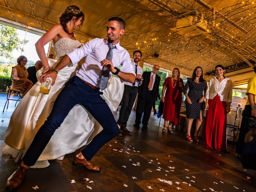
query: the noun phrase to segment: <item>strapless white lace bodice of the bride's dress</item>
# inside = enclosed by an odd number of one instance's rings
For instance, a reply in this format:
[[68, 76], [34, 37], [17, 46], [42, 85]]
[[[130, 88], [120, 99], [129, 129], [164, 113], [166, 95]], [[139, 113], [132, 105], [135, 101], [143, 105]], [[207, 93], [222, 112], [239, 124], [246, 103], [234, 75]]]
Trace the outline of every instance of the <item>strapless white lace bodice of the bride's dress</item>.
[[78, 40], [72, 40], [68, 37], [61, 38], [54, 44], [54, 52], [56, 54], [56, 59], [60, 60], [62, 56], [70, 51], [75, 50], [81, 45]]

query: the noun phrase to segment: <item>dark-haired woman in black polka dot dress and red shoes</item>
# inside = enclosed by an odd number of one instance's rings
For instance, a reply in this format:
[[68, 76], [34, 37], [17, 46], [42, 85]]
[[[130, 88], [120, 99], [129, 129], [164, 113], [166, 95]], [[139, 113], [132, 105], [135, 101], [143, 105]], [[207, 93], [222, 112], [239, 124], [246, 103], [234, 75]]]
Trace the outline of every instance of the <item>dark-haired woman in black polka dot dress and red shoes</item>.
[[203, 79], [203, 70], [196, 67], [192, 78], [188, 78], [185, 84], [184, 95], [186, 97], [187, 132], [186, 140], [192, 142], [190, 135], [193, 120], [196, 119], [196, 132], [194, 141], [199, 143], [198, 133], [204, 117], [204, 97], [207, 89], [206, 80]]

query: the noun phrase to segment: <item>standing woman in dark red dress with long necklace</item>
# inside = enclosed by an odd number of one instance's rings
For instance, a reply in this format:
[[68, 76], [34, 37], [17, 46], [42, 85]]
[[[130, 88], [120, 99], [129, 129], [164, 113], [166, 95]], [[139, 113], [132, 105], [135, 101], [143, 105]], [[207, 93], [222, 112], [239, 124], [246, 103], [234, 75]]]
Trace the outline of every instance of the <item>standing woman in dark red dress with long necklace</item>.
[[180, 70], [174, 68], [172, 77], [166, 78], [163, 84], [162, 102], [164, 102], [164, 128], [162, 132], [166, 132], [168, 124], [168, 132], [172, 134], [172, 126], [176, 126], [180, 120], [180, 107], [182, 102], [182, 92], [184, 83], [180, 78]]

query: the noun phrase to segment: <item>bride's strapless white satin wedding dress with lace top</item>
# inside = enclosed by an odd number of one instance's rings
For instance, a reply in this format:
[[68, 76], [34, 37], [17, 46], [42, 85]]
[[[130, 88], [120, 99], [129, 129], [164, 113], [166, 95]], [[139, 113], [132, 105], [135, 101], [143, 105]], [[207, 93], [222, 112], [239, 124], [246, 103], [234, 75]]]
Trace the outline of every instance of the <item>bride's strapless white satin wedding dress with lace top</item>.
[[[57, 58], [60, 59], [80, 45], [78, 40], [62, 38], [54, 44], [54, 51]], [[48, 59], [48, 62], [50, 67], [54, 68], [58, 60]], [[22, 98], [10, 118], [5, 138], [7, 145], [2, 154], [10, 154], [18, 160], [21, 154], [26, 153], [36, 132], [50, 114], [56, 97], [77, 69], [78, 64], [73, 66], [69, 64], [60, 70], [48, 95], [39, 93], [41, 83], [37, 82]], [[40, 74], [42, 74], [42, 69], [37, 72], [37, 76], [39, 77]], [[111, 77], [108, 81], [108, 87], [103, 91], [102, 98], [106, 100], [113, 114], [122, 99], [123, 90], [124, 84], [121, 83], [120, 79]], [[74, 152], [90, 142], [101, 130], [102, 127], [91, 114], [83, 106], [77, 104], [54, 132], [34, 167], [46, 167], [49, 165], [46, 160], [56, 159]]]

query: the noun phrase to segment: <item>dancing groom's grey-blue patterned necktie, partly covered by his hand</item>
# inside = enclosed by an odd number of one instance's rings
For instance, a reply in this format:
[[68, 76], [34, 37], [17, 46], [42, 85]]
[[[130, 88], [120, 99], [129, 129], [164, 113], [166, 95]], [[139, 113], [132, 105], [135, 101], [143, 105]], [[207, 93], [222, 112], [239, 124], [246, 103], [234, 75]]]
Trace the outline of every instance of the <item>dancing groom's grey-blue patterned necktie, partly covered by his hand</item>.
[[[112, 61], [113, 58], [113, 49], [116, 48], [115, 45], [112, 45], [111, 43], [108, 44], [108, 53], [106, 56], [107, 60]], [[108, 77], [109, 77], [109, 70], [107, 70], [107, 68], [105, 66], [103, 66], [102, 68], [102, 74], [101, 74], [101, 78], [100, 78], [100, 84], [99, 84], [99, 88], [103, 91], [104, 89], [107, 88], [108, 85]]]

